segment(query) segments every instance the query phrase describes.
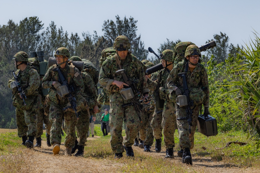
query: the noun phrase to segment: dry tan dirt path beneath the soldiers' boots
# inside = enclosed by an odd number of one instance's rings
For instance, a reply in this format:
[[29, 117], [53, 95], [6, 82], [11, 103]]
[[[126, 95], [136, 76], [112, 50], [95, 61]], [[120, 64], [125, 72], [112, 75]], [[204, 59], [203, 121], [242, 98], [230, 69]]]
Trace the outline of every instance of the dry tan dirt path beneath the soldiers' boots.
[[[0, 132], [14, 132], [14, 130], [0, 129]], [[17, 131], [17, 130], [16, 130]], [[96, 140], [99, 136], [89, 137], [88, 140]], [[144, 152], [143, 149], [133, 147], [135, 153], [139, 152], [145, 156], [152, 156], [155, 159], [163, 158], [165, 151], [156, 153], [154, 147], [151, 148], [151, 152]], [[84, 158], [84, 157], [65, 157], [65, 147], [62, 144], [60, 155], [54, 156], [52, 147], [48, 147], [46, 141], [42, 141], [42, 147], [40, 149], [35, 148], [33, 150], [23, 149], [21, 156], [27, 161], [26, 163], [33, 172], [121, 172], [122, 166], [127, 166], [124, 161], [109, 157], [106, 159], [96, 158]], [[253, 168], [238, 168], [235, 166], [227, 167], [223, 161], [212, 161], [210, 157], [193, 156], [193, 165], [186, 165], [181, 163], [181, 158], [177, 156], [177, 151], [174, 152], [174, 158], [169, 159], [173, 165], [182, 165], [187, 172], [260, 172]], [[130, 161], [129, 161], [130, 162]], [[131, 164], [131, 163], [130, 163]], [[26, 171], [25, 171], [26, 172]], [[141, 169], [140, 169], [141, 172]]]

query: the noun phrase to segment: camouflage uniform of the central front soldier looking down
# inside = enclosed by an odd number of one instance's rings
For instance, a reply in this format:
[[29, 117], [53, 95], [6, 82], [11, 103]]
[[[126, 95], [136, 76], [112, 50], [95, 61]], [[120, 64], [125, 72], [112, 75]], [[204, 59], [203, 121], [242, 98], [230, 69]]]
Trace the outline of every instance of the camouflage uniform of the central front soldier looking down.
[[[122, 142], [126, 147], [131, 147], [133, 145], [134, 138], [139, 129], [140, 120], [133, 106], [122, 107], [123, 104], [129, 103], [130, 100], [124, 100], [120, 94], [119, 87], [112, 85], [114, 80], [125, 82], [122, 75], [115, 73], [115, 71], [120, 70], [116, 63], [115, 56], [118, 55], [115, 54], [108, 57], [102, 64], [99, 74], [99, 83], [110, 93], [109, 126], [111, 127], [111, 148], [114, 153], [123, 153], [124, 148]], [[142, 91], [143, 94], [148, 93], [149, 89], [145, 80], [145, 73], [141, 62], [129, 52], [124, 63], [122, 63], [120, 58], [119, 60], [122, 69], [125, 69], [130, 82], [136, 81], [138, 89]], [[124, 140], [122, 137], [123, 121], [126, 123], [126, 136]]]

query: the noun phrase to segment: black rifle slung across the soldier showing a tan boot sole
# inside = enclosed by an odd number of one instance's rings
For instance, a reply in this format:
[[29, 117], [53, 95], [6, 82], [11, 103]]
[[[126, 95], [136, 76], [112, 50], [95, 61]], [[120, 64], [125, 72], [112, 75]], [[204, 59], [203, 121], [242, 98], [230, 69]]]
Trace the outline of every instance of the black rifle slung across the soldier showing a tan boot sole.
[[58, 72], [58, 76], [59, 76], [59, 80], [61, 81], [61, 85], [62, 85], [62, 86], [66, 86], [67, 89], [68, 89], [68, 91], [69, 91], [69, 93], [67, 94], [67, 96], [68, 96], [68, 100], [69, 100], [71, 106], [67, 106], [67, 107], [63, 108], [62, 110], [65, 111], [65, 110], [67, 110], [68, 108], [72, 108], [72, 109], [74, 110], [75, 114], [76, 114], [77, 119], [79, 119], [79, 113], [77, 113], [77, 108], [76, 108], [76, 107], [77, 107], [77, 105], [76, 105], [76, 99], [75, 99], [75, 97], [73, 97], [72, 94], [71, 94], [71, 93], [74, 92], [73, 86], [69, 87], [68, 82], [67, 82], [67, 80], [65, 79], [64, 75], [62, 74], [61, 68], [60, 68], [59, 66], [53, 68], [52, 70], [55, 71], [55, 72]]

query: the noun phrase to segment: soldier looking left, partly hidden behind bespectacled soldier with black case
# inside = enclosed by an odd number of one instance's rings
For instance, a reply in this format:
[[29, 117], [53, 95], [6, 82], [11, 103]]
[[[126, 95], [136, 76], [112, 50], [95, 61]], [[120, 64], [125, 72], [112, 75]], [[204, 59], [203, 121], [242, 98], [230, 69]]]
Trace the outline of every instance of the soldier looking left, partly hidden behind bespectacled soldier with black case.
[[[157, 80], [154, 82], [150, 79], [147, 80], [148, 86], [152, 87], [152, 90], [157, 88], [157, 85], [160, 85], [159, 88], [159, 96], [160, 99], [165, 100], [164, 108], [162, 112], [162, 128], [164, 134], [164, 143], [166, 148], [166, 156], [165, 158], [173, 158], [173, 148], [175, 147], [174, 142], [174, 133], [175, 133], [175, 124], [176, 124], [176, 116], [174, 114], [175, 108], [174, 103], [168, 98], [169, 90], [167, 88], [167, 77], [170, 71], [173, 68], [173, 51], [166, 49], [162, 51], [160, 57], [162, 59], [162, 66], [164, 69], [160, 71], [157, 76]], [[156, 148], [161, 148], [161, 140], [156, 140]], [[158, 150], [159, 151], [159, 150]]]

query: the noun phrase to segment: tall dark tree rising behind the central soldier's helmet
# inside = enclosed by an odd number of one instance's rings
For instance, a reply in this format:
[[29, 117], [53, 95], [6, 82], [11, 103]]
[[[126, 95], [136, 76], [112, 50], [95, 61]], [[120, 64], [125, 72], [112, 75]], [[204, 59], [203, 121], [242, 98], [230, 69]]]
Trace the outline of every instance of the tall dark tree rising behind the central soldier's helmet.
[[109, 47], [113, 46], [114, 40], [117, 36], [126, 36], [131, 43], [131, 51], [139, 60], [147, 59], [148, 51], [144, 49], [144, 42], [141, 41], [141, 34], [137, 36], [137, 20], [134, 20], [130, 16], [129, 19], [126, 16], [121, 20], [117, 15], [116, 22], [113, 20], [105, 20], [102, 25], [102, 31], [104, 31], [104, 38], [108, 40]]

